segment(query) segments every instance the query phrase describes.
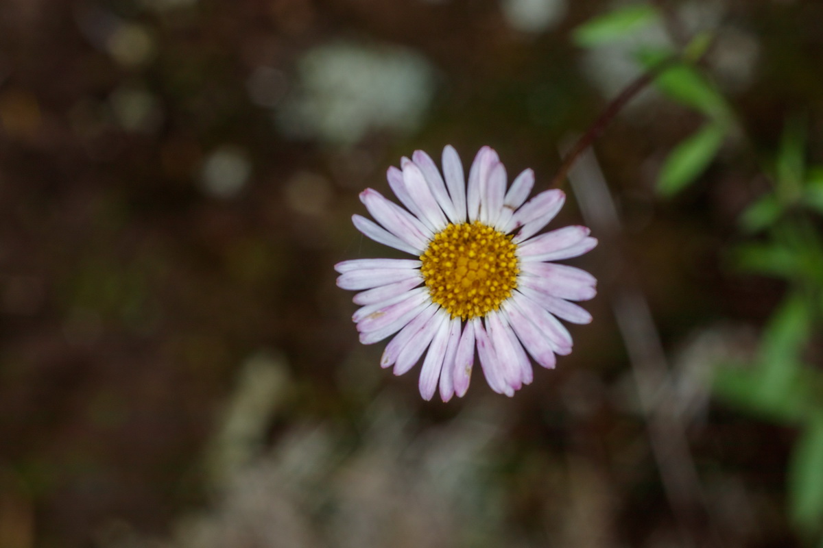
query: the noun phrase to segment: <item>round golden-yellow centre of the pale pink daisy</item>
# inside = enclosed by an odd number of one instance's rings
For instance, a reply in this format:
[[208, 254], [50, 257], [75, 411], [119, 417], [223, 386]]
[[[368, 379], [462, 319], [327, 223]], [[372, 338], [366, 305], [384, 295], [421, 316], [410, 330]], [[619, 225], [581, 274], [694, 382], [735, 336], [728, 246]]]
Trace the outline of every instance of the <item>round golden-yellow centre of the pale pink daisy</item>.
[[497, 310], [517, 287], [515, 250], [511, 236], [479, 221], [449, 224], [420, 257], [431, 300], [463, 320]]

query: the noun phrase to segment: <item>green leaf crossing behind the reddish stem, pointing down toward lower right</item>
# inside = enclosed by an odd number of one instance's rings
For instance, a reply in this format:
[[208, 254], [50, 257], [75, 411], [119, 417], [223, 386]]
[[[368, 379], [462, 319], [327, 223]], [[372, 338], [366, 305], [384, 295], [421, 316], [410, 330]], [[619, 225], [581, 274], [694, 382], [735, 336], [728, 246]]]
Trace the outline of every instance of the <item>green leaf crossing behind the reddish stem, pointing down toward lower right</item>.
[[[647, 49], [637, 54], [639, 62], [649, 69], [670, 57], [671, 53], [663, 50]], [[669, 99], [694, 108], [724, 126], [732, 125], [732, 110], [726, 99], [695, 67], [685, 63], [672, 65], [655, 78], [654, 85]]]

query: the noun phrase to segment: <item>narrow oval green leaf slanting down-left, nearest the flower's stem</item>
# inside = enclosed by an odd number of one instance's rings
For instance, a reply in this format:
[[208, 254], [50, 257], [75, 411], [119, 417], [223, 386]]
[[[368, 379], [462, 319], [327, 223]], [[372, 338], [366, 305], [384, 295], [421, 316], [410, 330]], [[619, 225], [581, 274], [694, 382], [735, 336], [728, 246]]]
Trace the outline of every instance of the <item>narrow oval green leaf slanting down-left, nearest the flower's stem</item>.
[[686, 188], [709, 167], [725, 136], [723, 127], [709, 123], [682, 140], [663, 163], [658, 175], [658, 191], [664, 196], [672, 196]]

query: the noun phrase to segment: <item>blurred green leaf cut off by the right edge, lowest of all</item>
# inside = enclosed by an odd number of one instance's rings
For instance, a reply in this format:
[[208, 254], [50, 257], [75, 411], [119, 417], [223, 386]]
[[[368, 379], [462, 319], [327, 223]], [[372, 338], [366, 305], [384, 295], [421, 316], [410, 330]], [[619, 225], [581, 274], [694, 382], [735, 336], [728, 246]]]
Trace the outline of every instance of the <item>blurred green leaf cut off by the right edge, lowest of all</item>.
[[788, 464], [789, 510], [809, 534], [823, 530], [823, 412], [803, 430]]

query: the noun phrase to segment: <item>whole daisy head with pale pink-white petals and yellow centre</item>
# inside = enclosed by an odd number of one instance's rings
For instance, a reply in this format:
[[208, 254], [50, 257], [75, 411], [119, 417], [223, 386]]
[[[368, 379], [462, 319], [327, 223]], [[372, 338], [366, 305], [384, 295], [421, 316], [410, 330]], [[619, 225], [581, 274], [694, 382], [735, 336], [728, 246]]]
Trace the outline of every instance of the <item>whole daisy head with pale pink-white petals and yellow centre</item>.
[[426, 400], [438, 385], [444, 402], [463, 397], [476, 353], [491, 389], [512, 396], [532, 382], [528, 356], [552, 369], [556, 355], [571, 352], [558, 318], [592, 320], [570, 301], [594, 297], [597, 280], [551, 261], [583, 255], [597, 240], [582, 226], [538, 235], [565, 194], [543, 191], [526, 201], [534, 172], [523, 171], [508, 187], [504, 165], [488, 146], [477, 153], [468, 185], [451, 145], [443, 150], [442, 175], [421, 150], [400, 165], [388, 168], [388, 184], [406, 209], [367, 188], [360, 201], [377, 223], [351, 219], [365, 236], [415, 258], [344, 260], [334, 267], [340, 288], [359, 291], [352, 320], [360, 343], [394, 335], [380, 365], [393, 366], [395, 375], [425, 354], [420, 393]]

